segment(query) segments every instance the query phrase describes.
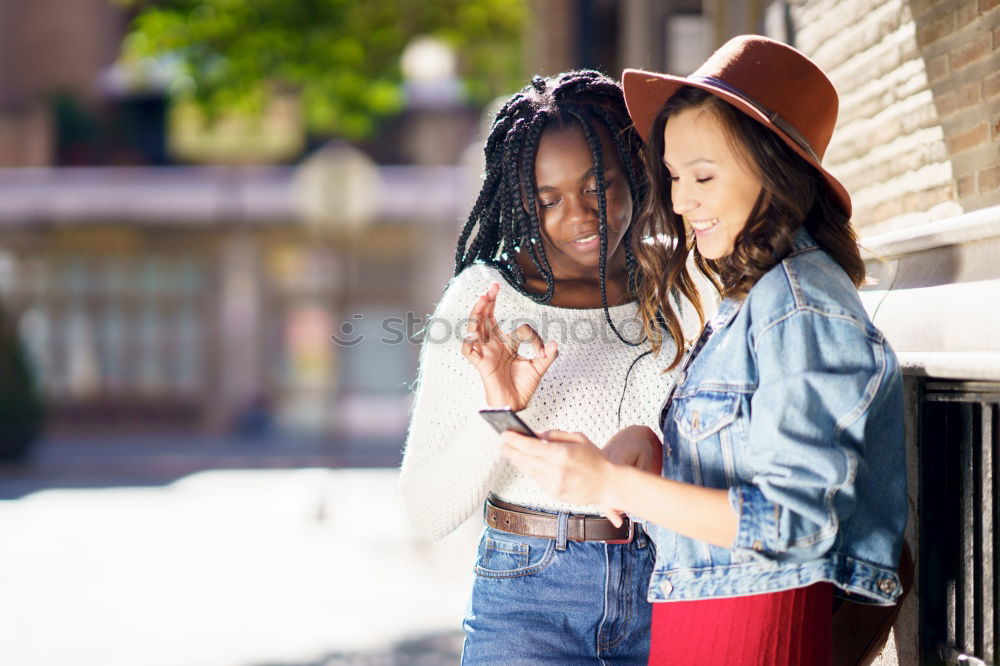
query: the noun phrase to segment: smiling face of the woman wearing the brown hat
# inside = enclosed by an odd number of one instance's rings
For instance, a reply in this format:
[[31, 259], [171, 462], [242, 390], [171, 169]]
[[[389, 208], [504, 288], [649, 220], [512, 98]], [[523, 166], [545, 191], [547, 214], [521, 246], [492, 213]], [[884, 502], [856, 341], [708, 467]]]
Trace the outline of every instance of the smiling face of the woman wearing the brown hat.
[[685, 109], [663, 128], [663, 163], [670, 175], [674, 212], [694, 231], [706, 259], [732, 253], [761, 191], [761, 178], [727, 140], [718, 115]]

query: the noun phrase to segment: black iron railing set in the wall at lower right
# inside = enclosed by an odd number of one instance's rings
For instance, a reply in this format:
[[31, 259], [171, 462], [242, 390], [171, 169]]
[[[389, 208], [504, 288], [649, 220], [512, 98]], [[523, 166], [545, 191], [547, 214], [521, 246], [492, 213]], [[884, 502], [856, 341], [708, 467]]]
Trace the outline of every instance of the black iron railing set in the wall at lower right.
[[927, 381], [921, 394], [921, 663], [997, 664], [1000, 383]]

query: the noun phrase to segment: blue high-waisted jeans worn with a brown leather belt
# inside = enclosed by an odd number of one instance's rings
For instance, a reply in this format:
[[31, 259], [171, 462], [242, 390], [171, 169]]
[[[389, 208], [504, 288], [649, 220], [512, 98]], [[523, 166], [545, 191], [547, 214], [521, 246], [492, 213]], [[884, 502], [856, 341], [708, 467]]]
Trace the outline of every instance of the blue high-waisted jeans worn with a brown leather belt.
[[646, 664], [652, 542], [524, 537], [487, 527], [462, 664]]

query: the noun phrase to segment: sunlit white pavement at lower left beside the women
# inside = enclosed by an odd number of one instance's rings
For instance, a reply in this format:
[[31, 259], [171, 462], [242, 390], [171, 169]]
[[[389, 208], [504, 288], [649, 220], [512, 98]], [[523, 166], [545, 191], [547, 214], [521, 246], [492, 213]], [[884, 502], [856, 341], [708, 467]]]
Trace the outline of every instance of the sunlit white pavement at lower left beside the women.
[[421, 539], [396, 482], [202, 471], [0, 501], [0, 663], [457, 663], [478, 521]]

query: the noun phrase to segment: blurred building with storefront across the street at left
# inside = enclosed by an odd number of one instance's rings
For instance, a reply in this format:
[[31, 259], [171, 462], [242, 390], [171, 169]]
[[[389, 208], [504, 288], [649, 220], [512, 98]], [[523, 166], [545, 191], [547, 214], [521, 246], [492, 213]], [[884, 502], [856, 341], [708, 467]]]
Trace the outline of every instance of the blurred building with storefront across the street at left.
[[452, 56], [404, 54], [409, 106], [361, 152], [322, 145], [294, 98], [211, 123], [170, 104], [190, 81], [168, 61], [116, 60], [132, 11], [0, 0], [0, 307], [49, 435], [398, 451], [475, 187]]

